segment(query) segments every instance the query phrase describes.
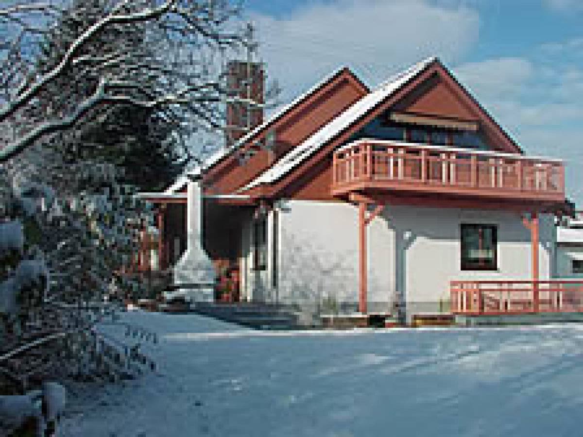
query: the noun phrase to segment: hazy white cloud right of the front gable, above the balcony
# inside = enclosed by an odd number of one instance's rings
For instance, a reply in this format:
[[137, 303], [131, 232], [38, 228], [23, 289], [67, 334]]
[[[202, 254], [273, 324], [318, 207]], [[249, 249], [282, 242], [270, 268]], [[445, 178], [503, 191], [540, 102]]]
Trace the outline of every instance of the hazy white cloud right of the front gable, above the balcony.
[[567, 192], [583, 202], [583, 69], [571, 41], [541, 47], [532, 58], [459, 65], [454, 72], [526, 153], [564, 158]]

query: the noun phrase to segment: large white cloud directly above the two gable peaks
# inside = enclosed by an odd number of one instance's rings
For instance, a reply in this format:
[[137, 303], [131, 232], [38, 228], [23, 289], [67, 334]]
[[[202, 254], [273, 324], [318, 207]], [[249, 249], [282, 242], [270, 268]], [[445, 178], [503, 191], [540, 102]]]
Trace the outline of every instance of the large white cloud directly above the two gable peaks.
[[285, 19], [252, 19], [269, 73], [286, 98], [342, 65], [374, 86], [431, 55], [456, 61], [475, 43], [479, 29], [475, 10], [421, 0], [336, 0]]

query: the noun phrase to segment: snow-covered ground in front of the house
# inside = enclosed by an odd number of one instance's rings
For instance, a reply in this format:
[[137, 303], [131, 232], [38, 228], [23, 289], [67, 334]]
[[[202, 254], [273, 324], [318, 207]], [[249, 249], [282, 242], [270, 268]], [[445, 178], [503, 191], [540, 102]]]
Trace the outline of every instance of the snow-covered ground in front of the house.
[[128, 313], [158, 373], [88, 392], [66, 436], [580, 436], [583, 326], [258, 332]]

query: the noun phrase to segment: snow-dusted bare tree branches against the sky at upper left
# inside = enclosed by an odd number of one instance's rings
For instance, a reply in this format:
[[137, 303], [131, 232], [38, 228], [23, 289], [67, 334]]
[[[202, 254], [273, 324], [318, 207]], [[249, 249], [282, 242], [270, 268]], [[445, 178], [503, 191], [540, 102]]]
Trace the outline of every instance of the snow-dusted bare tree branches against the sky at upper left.
[[[0, 124], [13, 132], [0, 148], [0, 162], [115, 105], [156, 110], [181, 139], [221, 129], [224, 103], [245, 100], [229, 94], [224, 61], [254, 44], [251, 29], [236, 19], [239, 10], [227, 0], [20, 2], [0, 10], [4, 33], [12, 37], [0, 47]], [[61, 38], [57, 58], [39, 63], [39, 52], [54, 48], [43, 44], [54, 44], [63, 17], [77, 19], [78, 29]], [[114, 34], [118, 44], [103, 44]], [[119, 44], [124, 34], [139, 35], [144, 44]], [[47, 93], [58, 104], [40, 111]]]

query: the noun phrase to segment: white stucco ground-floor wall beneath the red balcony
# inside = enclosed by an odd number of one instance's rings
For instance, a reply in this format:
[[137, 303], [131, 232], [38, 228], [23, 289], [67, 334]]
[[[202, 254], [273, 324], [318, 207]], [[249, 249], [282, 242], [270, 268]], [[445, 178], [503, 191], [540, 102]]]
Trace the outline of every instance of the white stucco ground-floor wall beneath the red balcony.
[[[279, 300], [357, 302], [357, 207], [287, 200], [278, 211]], [[461, 270], [462, 223], [497, 225], [497, 271]], [[437, 311], [440, 299], [449, 299], [450, 280], [531, 278], [530, 232], [518, 213], [387, 206], [367, 233], [369, 311], [391, 308], [399, 293], [410, 311]], [[553, 238], [552, 216], [540, 216], [540, 279], [552, 273]]]

